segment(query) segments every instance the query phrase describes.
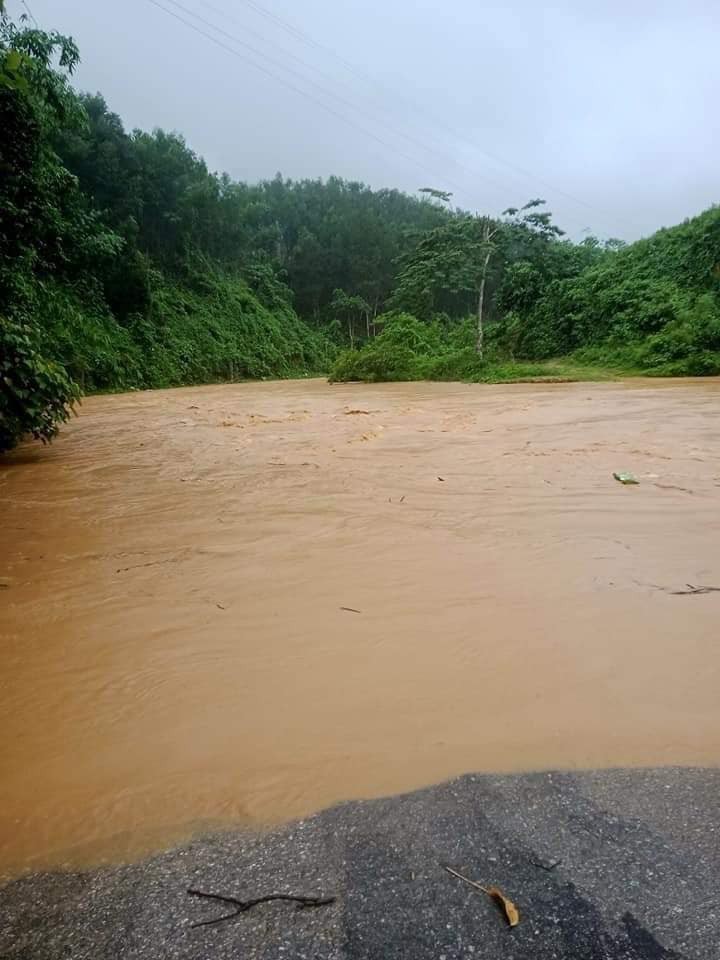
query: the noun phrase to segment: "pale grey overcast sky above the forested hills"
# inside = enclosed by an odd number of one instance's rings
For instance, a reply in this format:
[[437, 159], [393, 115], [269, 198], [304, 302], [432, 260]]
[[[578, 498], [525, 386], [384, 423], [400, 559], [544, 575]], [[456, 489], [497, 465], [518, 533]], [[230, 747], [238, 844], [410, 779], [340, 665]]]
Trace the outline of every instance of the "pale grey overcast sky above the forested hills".
[[720, 201], [717, 0], [157, 0], [234, 54], [151, 0], [28, 3], [78, 42], [79, 88], [238, 179], [541, 196], [576, 239]]

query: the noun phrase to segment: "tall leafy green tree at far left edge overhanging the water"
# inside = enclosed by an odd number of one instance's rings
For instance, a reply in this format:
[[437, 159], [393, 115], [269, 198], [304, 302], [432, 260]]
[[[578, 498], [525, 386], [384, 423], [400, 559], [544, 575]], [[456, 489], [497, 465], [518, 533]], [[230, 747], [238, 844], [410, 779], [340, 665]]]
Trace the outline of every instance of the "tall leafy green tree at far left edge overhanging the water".
[[[65, 277], [83, 284], [90, 263], [119, 238], [88, 212], [51, 146], [55, 131], [82, 122], [68, 77], [78, 51], [68, 37], [17, 27], [0, 15], [0, 446], [25, 433], [50, 440], [79, 391], [47, 352], [48, 291]], [[55, 67], [57, 64], [57, 68]]]

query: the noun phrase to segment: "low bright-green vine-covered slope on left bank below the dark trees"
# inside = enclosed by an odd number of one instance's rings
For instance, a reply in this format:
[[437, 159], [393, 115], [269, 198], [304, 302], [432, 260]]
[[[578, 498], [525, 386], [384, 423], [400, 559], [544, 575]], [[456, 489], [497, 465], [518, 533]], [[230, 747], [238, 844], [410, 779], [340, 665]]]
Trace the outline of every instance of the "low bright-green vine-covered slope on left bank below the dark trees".
[[153, 271], [149, 310], [122, 323], [98, 290], [52, 281], [22, 312], [42, 354], [87, 392], [293, 377], [329, 365], [323, 338], [292, 307], [269, 309], [232, 275], [208, 273], [199, 291]]

